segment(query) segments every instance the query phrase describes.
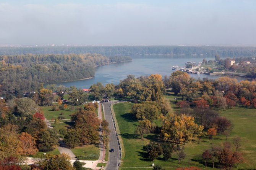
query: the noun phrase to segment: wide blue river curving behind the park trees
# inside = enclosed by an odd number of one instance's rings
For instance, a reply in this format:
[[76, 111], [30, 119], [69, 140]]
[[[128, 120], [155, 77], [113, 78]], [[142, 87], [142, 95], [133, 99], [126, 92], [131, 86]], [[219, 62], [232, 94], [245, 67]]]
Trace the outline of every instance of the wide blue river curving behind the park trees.
[[[206, 58], [208, 60], [214, 60], [214, 58]], [[127, 75], [135, 75], [139, 77], [141, 75], [160, 74], [162, 76], [170, 76], [175, 70], [172, 70], [172, 66], [178, 65], [184, 67], [188, 61], [201, 62], [203, 58], [136, 58], [130, 62], [109, 64], [95, 68], [95, 76], [92, 79], [85, 79], [79, 81], [70, 81], [56, 83], [57, 85], [64, 85], [66, 87], [76, 86], [77, 88], [87, 88], [92, 84], [101, 82], [102, 84], [113, 83], [117, 85], [120, 80], [126, 78]], [[193, 78], [203, 79], [208, 77], [211, 79], [219, 78], [220, 76], [205, 75], [205, 74], [190, 74]], [[241, 80], [243, 78], [238, 78]]]

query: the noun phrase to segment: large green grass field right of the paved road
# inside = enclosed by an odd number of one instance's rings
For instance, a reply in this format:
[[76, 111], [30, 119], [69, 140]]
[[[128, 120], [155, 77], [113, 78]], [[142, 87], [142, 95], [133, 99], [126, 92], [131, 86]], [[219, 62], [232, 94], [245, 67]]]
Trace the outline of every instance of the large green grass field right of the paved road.
[[[152, 163], [162, 165], [165, 169], [182, 167], [181, 164], [178, 164], [177, 155], [175, 155], [175, 153], [172, 154], [172, 159], [168, 161], [163, 160], [162, 157], [154, 160], [154, 162], [147, 159], [144, 146], [149, 143], [149, 140], [161, 141], [161, 138], [160, 135], [147, 134], [144, 135], [144, 140], [141, 140], [136, 134], [134, 134], [134, 129], [138, 122], [134, 115], [128, 111], [131, 109], [132, 105], [133, 103], [126, 102], [118, 103], [113, 106], [122, 134], [125, 151], [120, 169], [148, 170], [152, 167]], [[238, 168], [256, 168], [256, 130], [253, 127], [256, 122], [256, 111], [246, 108], [234, 108], [231, 110], [220, 111], [220, 114], [230, 119], [234, 126], [232, 134], [228, 137], [228, 140], [231, 140], [235, 135], [243, 137], [244, 144], [241, 151], [246, 161], [243, 164], [239, 164]], [[203, 151], [209, 149], [211, 145], [220, 145], [226, 141], [225, 139], [226, 138], [224, 136], [217, 135], [213, 140], [210, 140], [210, 142], [208, 142], [208, 138], [202, 138], [200, 143], [198, 143], [198, 141], [186, 143], [186, 159], [184, 160], [184, 166], [188, 166], [188, 160], [190, 160], [190, 166], [205, 169], [204, 161], [201, 159]], [[211, 162], [208, 166], [211, 166]], [[207, 167], [207, 169], [213, 168]]]

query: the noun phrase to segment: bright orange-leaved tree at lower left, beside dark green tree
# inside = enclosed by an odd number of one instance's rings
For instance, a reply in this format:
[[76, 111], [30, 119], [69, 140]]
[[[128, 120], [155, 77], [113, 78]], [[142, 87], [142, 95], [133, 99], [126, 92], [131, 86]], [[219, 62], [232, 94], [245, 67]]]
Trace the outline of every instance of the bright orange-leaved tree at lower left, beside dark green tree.
[[22, 132], [19, 135], [19, 141], [21, 141], [23, 155], [34, 155], [37, 152], [36, 140], [29, 133]]

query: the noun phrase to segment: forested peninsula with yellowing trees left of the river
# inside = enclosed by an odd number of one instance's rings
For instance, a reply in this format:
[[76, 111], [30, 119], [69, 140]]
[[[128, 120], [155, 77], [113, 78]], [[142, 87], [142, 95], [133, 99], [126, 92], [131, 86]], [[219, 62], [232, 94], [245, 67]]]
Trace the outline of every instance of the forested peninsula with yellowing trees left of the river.
[[41, 83], [90, 78], [94, 67], [131, 60], [101, 54], [24, 54], [0, 56], [0, 93], [18, 95]]

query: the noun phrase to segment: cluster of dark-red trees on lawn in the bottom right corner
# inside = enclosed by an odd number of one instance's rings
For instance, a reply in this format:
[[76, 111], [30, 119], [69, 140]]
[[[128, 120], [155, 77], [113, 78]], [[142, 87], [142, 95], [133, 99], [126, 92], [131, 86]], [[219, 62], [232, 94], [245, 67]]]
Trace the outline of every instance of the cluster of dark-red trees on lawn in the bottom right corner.
[[[232, 150], [232, 144], [235, 151]], [[213, 168], [216, 162], [222, 164], [225, 170], [232, 169], [234, 165], [238, 166], [238, 164], [244, 161], [242, 153], [238, 151], [241, 145], [242, 141], [240, 137], [234, 137], [232, 143], [225, 142], [222, 146], [213, 145], [202, 154], [205, 167], [207, 167], [209, 161], [212, 162]]]

